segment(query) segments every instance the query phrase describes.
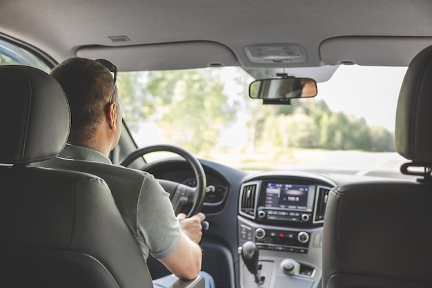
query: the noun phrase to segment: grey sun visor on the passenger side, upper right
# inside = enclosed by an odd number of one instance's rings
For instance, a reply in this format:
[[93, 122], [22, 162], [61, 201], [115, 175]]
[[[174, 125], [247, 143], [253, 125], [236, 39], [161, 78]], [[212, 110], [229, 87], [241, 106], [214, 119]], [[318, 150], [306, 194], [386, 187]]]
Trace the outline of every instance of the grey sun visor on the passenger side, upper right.
[[432, 45], [432, 37], [335, 37], [322, 41], [320, 55], [328, 65], [408, 66]]

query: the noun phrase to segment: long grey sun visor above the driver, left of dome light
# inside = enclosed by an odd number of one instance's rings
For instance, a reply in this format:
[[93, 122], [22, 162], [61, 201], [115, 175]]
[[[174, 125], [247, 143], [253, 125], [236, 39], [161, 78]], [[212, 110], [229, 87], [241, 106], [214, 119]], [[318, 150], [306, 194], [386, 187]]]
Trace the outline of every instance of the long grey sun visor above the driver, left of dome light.
[[121, 71], [175, 70], [208, 66], [236, 66], [228, 47], [211, 41], [187, 41], [137, 46], [87, 46], [78, 57], [108, 59]]

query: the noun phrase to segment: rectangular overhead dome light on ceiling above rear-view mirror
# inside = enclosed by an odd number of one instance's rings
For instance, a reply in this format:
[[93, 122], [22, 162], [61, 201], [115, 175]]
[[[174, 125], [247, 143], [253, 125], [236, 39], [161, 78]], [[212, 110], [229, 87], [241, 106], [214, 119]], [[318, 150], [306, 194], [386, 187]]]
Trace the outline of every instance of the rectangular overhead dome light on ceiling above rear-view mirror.
[[244, 48], [254, 63], [301, 63], [306, 61], [306, 51], [299, 44], [250, 45]]

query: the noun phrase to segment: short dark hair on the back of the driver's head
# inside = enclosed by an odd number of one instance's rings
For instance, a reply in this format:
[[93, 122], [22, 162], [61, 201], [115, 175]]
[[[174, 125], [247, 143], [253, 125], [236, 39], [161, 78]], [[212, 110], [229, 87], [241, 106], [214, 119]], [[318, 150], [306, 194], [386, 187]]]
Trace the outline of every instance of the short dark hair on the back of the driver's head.
[[[91, 142], [111, 99], [113, 78], [99, 62], [86, 58], [70, 58], [52, 69], [68, 97], [71, 127], [68, 143]], [[112, 97], [119, 104], [117, 88]]]

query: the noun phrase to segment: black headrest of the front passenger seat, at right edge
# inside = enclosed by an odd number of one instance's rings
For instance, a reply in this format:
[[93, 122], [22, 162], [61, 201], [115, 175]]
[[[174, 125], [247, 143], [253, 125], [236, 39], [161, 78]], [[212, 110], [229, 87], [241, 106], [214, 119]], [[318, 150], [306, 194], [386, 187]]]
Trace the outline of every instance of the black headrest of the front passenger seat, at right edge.
[[413, 58], [396, 112], [396, 150], [413, 162], [432, 163], [432, 46]]

